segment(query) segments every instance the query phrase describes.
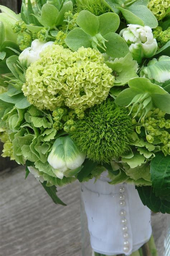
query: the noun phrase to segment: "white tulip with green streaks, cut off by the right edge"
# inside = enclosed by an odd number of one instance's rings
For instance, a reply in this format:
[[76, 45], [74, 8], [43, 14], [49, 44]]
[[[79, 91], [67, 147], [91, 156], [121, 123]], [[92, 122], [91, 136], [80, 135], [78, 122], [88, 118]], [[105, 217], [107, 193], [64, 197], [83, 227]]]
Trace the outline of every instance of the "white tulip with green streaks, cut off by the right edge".
[[[162, 85], [170, 80], [170, 57], [160, 56], [148, 62], [147, 67], [143, 67], [140, 76], [148, 78], [152, 83]], [[169, 81], [170, 83], [170, 81]]]

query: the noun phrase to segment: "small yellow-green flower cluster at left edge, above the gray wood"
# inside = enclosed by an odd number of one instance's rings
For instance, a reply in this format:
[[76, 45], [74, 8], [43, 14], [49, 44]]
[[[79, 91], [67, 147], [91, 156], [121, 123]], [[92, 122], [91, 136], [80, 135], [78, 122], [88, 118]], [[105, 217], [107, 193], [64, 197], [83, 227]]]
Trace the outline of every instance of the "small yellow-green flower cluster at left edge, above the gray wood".
[[13, 144], [10, 141], [10, 138], [8, 136], [8, 133], [3, 132], [0, 134], [0, 141], [4, 143], [4, 149], [3, 154], [1, 156], [3, 157], [10, 157], [10, 160], [15, 160], [14, 158], [14, 151], [13, 151]]

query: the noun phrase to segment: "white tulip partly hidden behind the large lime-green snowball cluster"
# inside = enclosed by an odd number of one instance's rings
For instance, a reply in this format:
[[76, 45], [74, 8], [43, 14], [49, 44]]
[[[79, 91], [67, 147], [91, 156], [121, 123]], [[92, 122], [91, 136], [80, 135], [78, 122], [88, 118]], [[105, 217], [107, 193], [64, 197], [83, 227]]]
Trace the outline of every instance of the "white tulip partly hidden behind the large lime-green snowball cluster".
[[26, 48], [23, 52], [19, 55], [20, 63], [25, 66], [29, 67], [31, 63], [40, 59], [40, 53], [49, 45], [52, 45], [53, 42], [42, 43], [38, 39], [32, 41], [31, 47]]

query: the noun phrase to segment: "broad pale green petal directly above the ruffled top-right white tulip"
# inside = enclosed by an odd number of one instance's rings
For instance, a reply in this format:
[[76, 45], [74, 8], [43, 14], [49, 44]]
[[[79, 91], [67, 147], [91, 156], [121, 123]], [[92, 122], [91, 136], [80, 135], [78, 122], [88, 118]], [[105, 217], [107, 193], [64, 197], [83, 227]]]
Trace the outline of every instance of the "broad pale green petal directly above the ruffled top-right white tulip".
[[[126, 8], [129, 12], [131, 12], [132, 17], [135, 15], [136, 17], [140, 18], [144, 24], [144, 26], [149, 26], [151, 28], [155, 28], [158, 26], [158, 22], [154, 14], [147, 8], [147, 6], [144, 5], [131, 5], [130, 7]], [[123, 14], [123, 13], [122, 13]], [[125, 16], [124, 16], [125, 17]], [[126, 19], [126, 17], [125, 17]], [[133, 19], [132, 19], [133, 20]], [[128, 17], [128, 23], [130, 24], [138, 24], [138, 23], [132, 23], [129, 21]], [[139, 24], [141, 25], [141, 24]]]

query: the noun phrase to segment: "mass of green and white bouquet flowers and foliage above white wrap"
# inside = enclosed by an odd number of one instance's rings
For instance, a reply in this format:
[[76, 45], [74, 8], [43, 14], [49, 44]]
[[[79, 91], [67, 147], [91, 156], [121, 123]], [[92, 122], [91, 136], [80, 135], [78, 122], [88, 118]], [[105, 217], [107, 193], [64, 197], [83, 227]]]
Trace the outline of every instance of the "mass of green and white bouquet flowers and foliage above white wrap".
[[[0, 6], [0, 140], [55, 203], [56, 187], [134, 184], [170, 213], [170, 1]], [[29, 168], [28, 168], [29, 167]]]

